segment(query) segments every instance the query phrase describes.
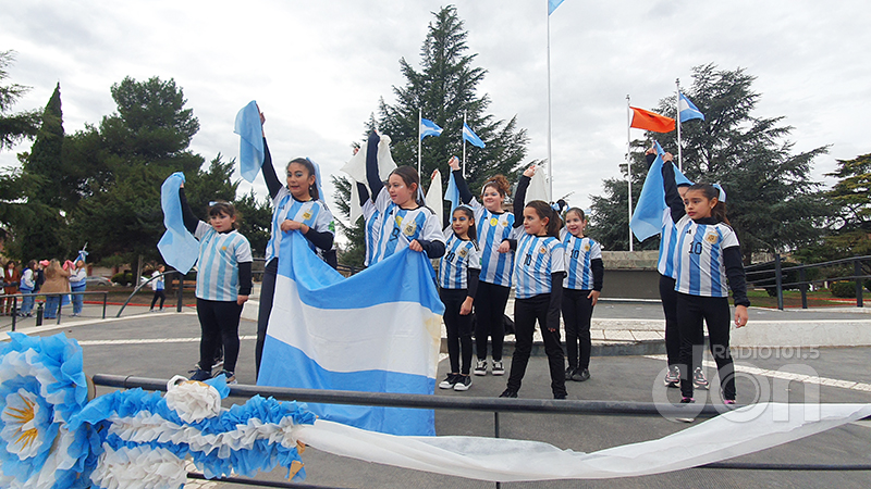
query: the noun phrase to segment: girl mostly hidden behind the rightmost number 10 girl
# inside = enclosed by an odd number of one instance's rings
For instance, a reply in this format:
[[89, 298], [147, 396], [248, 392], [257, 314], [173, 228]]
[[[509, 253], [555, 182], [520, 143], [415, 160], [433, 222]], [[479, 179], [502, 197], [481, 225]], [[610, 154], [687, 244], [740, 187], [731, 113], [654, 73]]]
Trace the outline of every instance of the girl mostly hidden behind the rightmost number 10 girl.
[[[645, 153], [647, 165], [650, 167], [657, 160], [657, 149], [650, 148]], [[673, 161], [672, 153], [662, 155], [663, 161]], [[677, 186], [677, 193], [683, 200], [684, 193], [691, 181], [686, 177], [680, 181], [675, 181]], [[662, 211], [662, 229], [660, 231], [660, 250], [659, 260], [657, 262], [657, 269], [660, 273], [660, 299], [662, 300], [662, 311], [665, 315], [665, 355], [668, 363], [668, 372], [665, 374], [665, 386], [677, 387], [680, 383], [680, 368], [678, 368], [680, 356], [680, 331], [677, 328], [677, 292], [674, 290], [675, 284], [675, 266], [674, 255], [677, 248], [677, 228], [672, 221], [672, 210], [665, 208]], [[704, 331], [699, 329], [696, 338], [692, 339], [694, 348], [702, 348], [704, 346]], [[708, 388], [708, 379], [704, 377], [704, 371], [701, 368], [701, 356], [694, 355], [696, 363], [692, 364], [692, 383], [696, 388]]]

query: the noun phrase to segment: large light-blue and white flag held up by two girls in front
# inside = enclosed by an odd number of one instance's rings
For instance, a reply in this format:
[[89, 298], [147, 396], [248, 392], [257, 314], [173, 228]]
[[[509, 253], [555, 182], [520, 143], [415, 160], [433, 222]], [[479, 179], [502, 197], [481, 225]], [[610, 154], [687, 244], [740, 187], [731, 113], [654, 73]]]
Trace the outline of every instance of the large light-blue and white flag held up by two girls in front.
[[[444, 305], [424, 253], [405, 249], [348, 278], [298, 231], [281, 241], [258, 386], [432, 394]], [[309, 404], [323, 419], [434, 435], [431, 410]]]

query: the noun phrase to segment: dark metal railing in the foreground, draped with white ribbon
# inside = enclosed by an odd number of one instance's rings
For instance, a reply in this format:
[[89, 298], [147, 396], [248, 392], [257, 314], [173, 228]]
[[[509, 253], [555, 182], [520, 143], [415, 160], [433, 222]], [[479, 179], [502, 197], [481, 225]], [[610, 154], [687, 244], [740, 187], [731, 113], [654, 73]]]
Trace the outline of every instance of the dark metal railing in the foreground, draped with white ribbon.
[[[96, 374], [93, 377], [96, 386], [113, 387], [121, 389], [143, 388], [146, 390], [167, 390], [167, 380], [144, 378], [135, 376]], [[652, 402], [629, 401], [576, 401], [551, 399], [502, 399], [502, 398], [475, 398], [475, 397], [438, 397], [428, 394], [403, 394], [388, 392], [357, 392], [320, 389], [294, 389], [284, 387], [265, 387], [232, 385], [229, 398], [250, 399], [254, 396], [272, 397], [279, 401], [314, 402], [327, 404], [352, 404], [389, 408], [413, 408], [452, 411], [476, 411], [493, 413], [493, 437], [500, 438], [500, 413], [529, 413], [529, 414], [567, 414], [567, 415], [608, 415], [608, 416], [687, 416], [687, 405], [662, 404]], [[732, 409], [741, 405], [731, 406]], [[721, 414], [722, 408], [713, 404], [691, 408], [694, 418], [709, 418]], [[871, 419], [871, 416], [864, 419]], [[871, 471], [871, 463], [864, 464], [784, 464], [784, 463], [737, 463], [715, 462], [700, 465], [695, 468], [732, 468], [748, 471]], [[188, 476], [203, 478], [201, 474], [188, 473]], [[212, 479], [218, 481], [233, 481], [231, 479]], [[259, 484], [265, 487], [318, 487], [300, 486], [286, 482], [255, 482], [249, 479], [240, 484]], [[286, 484], [278, 486], [277, 484]], [[500, 482], [495, 482], [500, 488]]]

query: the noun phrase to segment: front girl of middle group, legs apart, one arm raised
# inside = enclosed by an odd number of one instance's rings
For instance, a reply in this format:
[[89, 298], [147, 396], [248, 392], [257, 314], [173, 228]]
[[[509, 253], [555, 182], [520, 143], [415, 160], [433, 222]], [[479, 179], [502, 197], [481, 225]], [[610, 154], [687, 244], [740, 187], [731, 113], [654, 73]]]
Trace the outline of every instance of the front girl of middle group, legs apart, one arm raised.
[[560, 303], [565, 277], [565, 251], [560, 235], [560, 215], [541, 200], [524, 206], [526, 188], [535, 175], [529, 167], [520, 177], [514, 199], [515, 218], [523, 222], [524, 231], [516, 241], [514, 264], [514, 355], [507, 388], [501, 398], [516, 398], [526, 364], [532, 351], [536, 321], [541, 327], [544, 352], [551, 371], [551, 391], [554, 399], [565, 399], [565, 360], [560, 344]]

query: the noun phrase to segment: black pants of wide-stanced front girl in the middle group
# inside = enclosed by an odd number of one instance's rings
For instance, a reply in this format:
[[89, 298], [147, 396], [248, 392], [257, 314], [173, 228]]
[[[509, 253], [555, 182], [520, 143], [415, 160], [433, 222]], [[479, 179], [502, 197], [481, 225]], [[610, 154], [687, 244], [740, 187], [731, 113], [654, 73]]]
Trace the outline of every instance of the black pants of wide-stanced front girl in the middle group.
[[[514, 355], [511, 358], [511, 374], [508, 375], [508, 389], [520, 390], [520, 383], [526, 374], [526, 365], [532, 352], [532, 334], [536, 330], [536, 321], [541, 327], [544, 339], [544, 353], [548, 354], [548, 364], [551, 371], [551, 391], [554, 397], [566, 396], [565, 390], [565, 358], [563, 347], [560, 344], [560, 329], [548, 330], [548, 308], [551, 294], [542, 293], [529, 299], [514, 301]], [[559, 314], [559, 311], [556, 312]], [[559, 324], [559, 323], [557, 323]]]

